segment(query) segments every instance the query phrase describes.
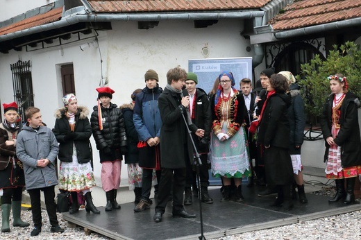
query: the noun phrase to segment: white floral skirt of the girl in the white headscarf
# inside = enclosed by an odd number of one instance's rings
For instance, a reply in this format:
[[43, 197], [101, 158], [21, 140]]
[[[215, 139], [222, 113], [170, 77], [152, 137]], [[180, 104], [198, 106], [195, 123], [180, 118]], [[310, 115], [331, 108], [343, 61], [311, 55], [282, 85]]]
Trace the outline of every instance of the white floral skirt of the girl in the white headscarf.
[[60, 162], [59, 189], [82, 191], [94, 186], [94, 173], [90, 162]]

